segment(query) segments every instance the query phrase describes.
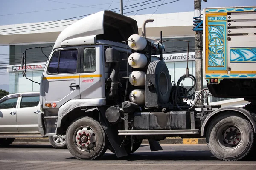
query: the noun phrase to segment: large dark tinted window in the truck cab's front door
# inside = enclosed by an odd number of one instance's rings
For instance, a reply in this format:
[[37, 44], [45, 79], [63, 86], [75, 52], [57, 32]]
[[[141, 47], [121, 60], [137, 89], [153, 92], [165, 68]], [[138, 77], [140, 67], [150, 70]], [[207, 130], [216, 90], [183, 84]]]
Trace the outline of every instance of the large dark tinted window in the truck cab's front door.
[[48, 68], [48, 73], [76, 73], [77, 49], [55, 51]]

